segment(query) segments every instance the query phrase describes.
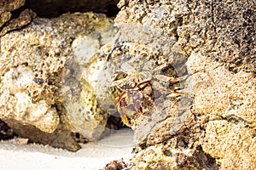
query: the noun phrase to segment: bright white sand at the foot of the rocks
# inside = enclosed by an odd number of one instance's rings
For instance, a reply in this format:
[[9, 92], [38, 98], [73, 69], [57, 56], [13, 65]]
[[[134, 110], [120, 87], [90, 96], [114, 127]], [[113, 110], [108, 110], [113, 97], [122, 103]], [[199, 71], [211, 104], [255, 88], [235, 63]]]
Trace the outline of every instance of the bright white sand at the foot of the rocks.
[[0, 142], [0, 169], [100, 169], [109, 161], [131, 158], [134, 144], [131, 130], [119, 130], [94, 143], [82, 144], [78, 152], [41, 144], [26, 144], [26, 139]]

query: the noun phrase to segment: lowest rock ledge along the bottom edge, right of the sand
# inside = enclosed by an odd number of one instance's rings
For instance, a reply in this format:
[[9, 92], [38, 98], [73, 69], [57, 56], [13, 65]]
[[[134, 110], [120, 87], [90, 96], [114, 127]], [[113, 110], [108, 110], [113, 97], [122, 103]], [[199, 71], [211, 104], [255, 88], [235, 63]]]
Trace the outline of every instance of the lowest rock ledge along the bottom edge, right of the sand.
[[[177, 139], [181, 140], [181, 139]], [[201, 147], [187, 149], [185, 144], [155, 144], [148, 146], [131, 158], [128, 169], [218, 169], [215, 160]]]

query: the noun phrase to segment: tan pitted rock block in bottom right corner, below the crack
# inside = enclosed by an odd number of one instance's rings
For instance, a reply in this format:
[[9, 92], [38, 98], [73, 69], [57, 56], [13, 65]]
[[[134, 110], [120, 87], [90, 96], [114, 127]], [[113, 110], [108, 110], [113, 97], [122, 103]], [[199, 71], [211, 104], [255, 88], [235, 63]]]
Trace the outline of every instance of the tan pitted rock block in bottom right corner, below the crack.
[[203, 150], [216, 158], [221, 169], [256, 168], [256, 131], [225, 120], [207, 123]]

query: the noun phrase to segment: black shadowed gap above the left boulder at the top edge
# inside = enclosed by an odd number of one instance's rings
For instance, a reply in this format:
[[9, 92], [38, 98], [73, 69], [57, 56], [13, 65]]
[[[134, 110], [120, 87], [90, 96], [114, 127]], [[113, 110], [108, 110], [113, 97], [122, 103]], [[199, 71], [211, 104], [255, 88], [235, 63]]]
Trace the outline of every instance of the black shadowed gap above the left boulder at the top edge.
[[94, 12], [115, 17], [119, 12], [117, 3], [119, 3], [119, 0], [26, 0], [23, 7], [13, 12], [13, 18], [26, 8], [31, 8], [41, 18], [53, 18], [61, 14], [75, 12]]

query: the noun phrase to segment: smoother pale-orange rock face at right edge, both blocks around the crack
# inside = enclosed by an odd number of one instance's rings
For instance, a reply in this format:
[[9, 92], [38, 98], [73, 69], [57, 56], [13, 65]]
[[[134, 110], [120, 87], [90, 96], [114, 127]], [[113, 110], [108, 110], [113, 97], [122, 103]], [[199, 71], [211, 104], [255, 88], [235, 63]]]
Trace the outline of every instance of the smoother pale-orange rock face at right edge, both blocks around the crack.
[[254, 74], [233, 73], [197, 53], [191, 54], [187, 65], [189, 70], [205, 69], [190, 80], [195, 83], [193, 112], [206, 122], [202, 149], [216, 158], [221, 168], [255, 168]]

